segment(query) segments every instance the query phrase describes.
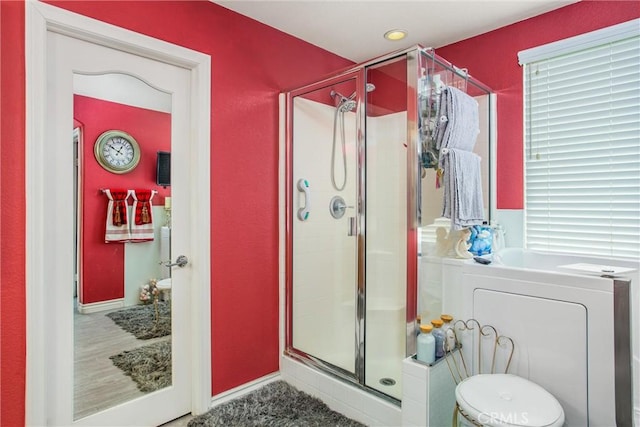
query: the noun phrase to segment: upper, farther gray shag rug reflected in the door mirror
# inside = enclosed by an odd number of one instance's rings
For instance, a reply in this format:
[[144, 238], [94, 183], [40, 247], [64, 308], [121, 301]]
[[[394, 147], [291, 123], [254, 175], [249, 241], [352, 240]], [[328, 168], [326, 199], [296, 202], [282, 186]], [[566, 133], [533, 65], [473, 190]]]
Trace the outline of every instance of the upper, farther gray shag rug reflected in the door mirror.
[[157, 325], [153, 304], [137, 305], [108, 313], [107, 316], [139, 340], [148, 340], [171, 334], [171, 301], [159, 301], [158, 312], [160, 316]]

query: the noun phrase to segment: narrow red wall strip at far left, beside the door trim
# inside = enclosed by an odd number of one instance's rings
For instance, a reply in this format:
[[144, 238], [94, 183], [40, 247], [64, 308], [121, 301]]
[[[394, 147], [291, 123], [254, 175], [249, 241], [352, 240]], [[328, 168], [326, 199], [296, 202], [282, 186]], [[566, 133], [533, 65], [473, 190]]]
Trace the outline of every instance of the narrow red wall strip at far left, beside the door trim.
[[0, 1], [0, 425], [24, 425], [24, 4]]

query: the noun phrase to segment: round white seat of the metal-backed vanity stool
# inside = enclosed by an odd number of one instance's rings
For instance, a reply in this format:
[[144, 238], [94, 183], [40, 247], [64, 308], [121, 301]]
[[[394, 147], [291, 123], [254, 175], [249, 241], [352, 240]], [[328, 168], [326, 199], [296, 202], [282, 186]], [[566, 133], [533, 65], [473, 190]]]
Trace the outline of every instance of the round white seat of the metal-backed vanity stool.
[[564, 411], [551, 393], [511, 374], [474, 375], [456, 387], [456, 401], [479, 424], [561, 427]]

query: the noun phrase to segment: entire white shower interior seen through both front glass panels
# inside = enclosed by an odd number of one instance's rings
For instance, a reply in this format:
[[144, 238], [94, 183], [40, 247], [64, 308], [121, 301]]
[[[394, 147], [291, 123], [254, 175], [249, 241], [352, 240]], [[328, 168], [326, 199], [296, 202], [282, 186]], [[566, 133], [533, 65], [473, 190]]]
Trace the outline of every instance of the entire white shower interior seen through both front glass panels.
[[[293, 347], [355, 373], [357, 238], [348, 218], [356, 216], [358, 178], [355, 113], [345, 113], [347, 183], [331, 184], [335, 108], [297, 97], [293, 147]], [[401, 398], [406, 338], [407, 117], [405, 112], [367, 118], [366, 141], [366, 372], [370, 387]], [[342, 182], [341, 140], [335, 181]], [[309, 183], [309, 218], [297, 182]], [[348, 206], [340, 219], [329, 204], [339, 195]], [[391, 378], [395, 385], [383, 386]]]

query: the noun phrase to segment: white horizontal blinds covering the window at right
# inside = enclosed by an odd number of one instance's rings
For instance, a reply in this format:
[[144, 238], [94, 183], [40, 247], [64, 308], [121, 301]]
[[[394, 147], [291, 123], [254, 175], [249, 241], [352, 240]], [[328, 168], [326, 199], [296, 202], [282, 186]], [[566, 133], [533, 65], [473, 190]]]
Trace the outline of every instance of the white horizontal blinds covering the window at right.
[[638, 33], [525, 64], [527, 248], [640, 259]]

